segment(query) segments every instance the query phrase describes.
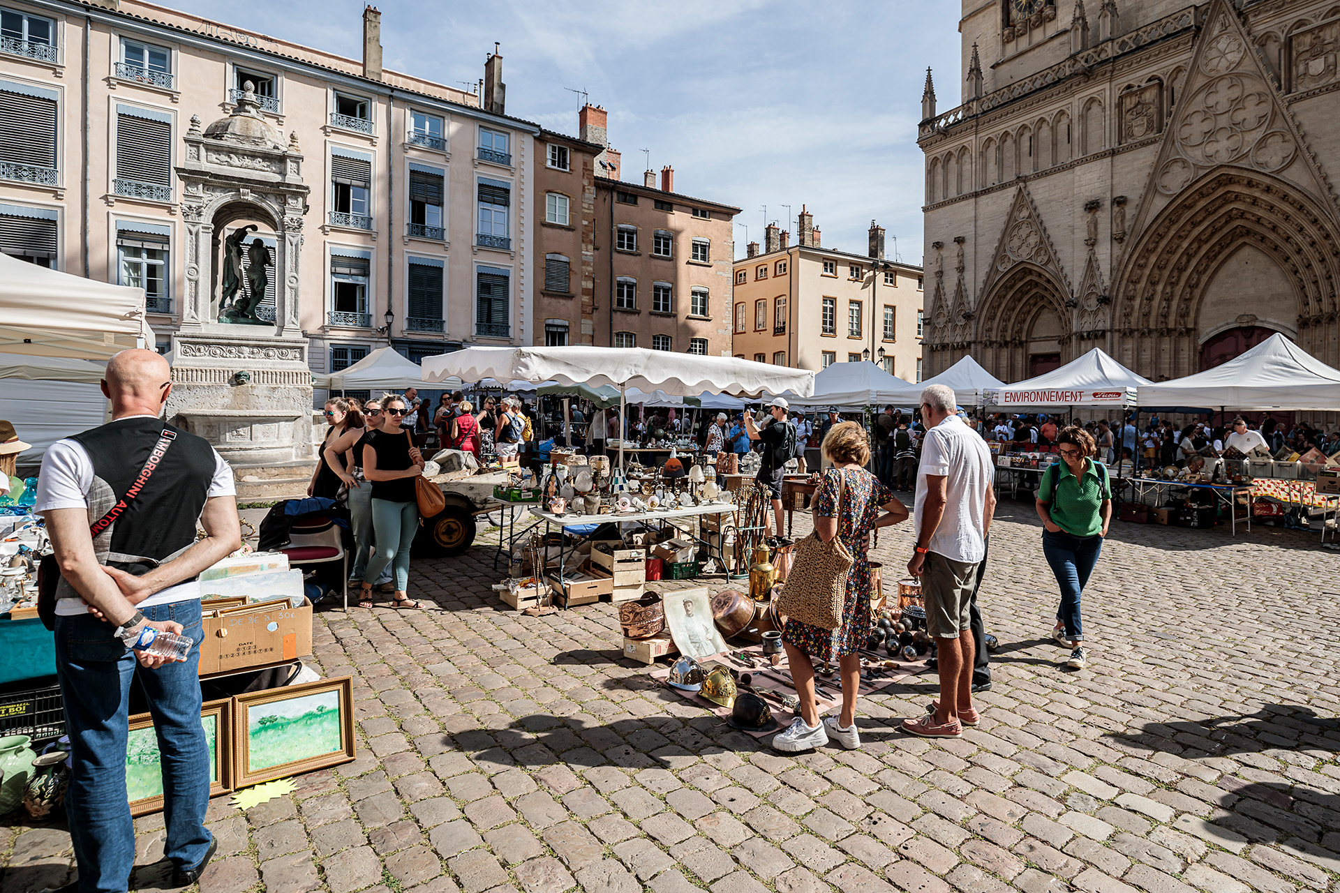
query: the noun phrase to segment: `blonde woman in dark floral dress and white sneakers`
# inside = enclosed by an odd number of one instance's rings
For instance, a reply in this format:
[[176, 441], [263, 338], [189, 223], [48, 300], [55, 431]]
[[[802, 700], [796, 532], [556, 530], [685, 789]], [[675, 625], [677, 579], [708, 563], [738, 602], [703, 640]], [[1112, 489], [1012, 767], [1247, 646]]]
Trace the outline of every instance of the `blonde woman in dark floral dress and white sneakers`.
[[[843, 422], [829, 428], [823, 443], [824, 455], [833, 463], [824, 471], [823, 482], [815, 491], [815, 533], [824, 542], [840, 537], [851, 553], [852, 565], [847, 576], [847, 598], [843, 602], [842, 625], [821, 629], [787, 620], [781, 640], [787, 647], [791, 679], [800, 698], [800, 715], [791, 727], [772, 739], [781, 751], [801, 751], [821, 747], [829, 738], [848, 750], [860, 747], [856, 732], [856, 691], [860, 685], [860, 657], [856, 649], [870, 635], [870, 561], [866, 549], [870, 532], [907, 519], [907, 506], [899, 502], [879, 479], [866, 470], [870, 462], [870, 442], [866, 431], [855, 422]], [[839, 490], [843, 487], [839, 511]], [[842, 671], [842, 714], [819, 720], [815, 703], [815, 661], [833, 663]]]

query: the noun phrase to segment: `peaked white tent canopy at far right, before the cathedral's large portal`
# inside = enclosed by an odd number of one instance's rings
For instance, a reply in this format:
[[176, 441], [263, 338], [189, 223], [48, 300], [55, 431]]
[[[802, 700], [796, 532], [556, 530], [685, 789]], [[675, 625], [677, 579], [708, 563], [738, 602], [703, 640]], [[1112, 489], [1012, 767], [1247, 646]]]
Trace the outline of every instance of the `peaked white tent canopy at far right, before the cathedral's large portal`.
[[1142, 407], [1223, 407], [1242, 411], [1340, 410], [1340, 370], [1272, 335], [1223, 366], [1171, 382], [1142, 384]]

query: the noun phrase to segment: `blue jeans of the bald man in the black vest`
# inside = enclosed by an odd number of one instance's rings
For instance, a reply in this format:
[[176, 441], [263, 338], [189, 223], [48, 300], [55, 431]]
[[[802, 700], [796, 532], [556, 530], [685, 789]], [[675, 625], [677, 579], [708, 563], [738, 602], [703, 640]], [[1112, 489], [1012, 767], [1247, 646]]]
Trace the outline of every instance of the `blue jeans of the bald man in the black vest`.
[[163, 851], [178, 869], [205, 858], [212, 835], [209, 742], [200, 723], [200, 601], [142, 608], [149, 620], [174, 620], [194, 641], [186, 660], [145, 669], [134, 652], [92, 615], [56, 617], [56, 672], [66, 706], [74, 771], [66, 793], [80, 893], [122, 893], [135, 861], [135, 826], [126, 799], [130, 681], [149, 700], [162, 760]]

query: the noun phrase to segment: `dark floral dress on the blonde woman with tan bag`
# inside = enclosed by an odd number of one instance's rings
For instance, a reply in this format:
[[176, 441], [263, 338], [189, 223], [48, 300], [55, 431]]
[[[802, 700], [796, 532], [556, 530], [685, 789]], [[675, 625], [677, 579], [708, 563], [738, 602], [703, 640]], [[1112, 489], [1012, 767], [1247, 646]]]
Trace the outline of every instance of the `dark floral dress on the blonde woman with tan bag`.
[[852, 564], [847, 576], [842, 625], [838, 629], [821, 629], [799, 620], [787, 620], [781, 633], [784, 641], [823, 663], [835, 663], [838, 657], [856, 653], [870, 633], [870, 561], [866, 557], [866, 542], [880, 514], [879, 506], [894, 498], [892, 491], [864, 469], [828, 469], [815, 491], [815, 517], [838, 515], [838, 482], [843, 474], [847, 475], [847, 493], [838, 519], [838, 537], [851, 553]]

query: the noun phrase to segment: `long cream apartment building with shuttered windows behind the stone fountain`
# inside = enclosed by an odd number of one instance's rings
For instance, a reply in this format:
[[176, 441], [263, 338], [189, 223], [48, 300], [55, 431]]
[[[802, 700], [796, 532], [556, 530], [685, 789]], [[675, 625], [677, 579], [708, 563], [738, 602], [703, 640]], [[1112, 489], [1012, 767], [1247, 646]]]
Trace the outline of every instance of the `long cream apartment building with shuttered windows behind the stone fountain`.
[[[532, 343], [544, 159], [540, 129], [504, 114], [501, 56], [477, 92], [454, 90], [383, 70], [381, 13], [367, 8], [362, 27], [352, 60], [137, 0], [0, 1], [0, 250], [145, 288], [169, 349], [198, 266], [184, 139], [255, 98], [263, 138], [297, 154], [310, 187], [288, 224], [300, 262], [287, 282], [269, 270], [256, 315], [273, 320], [276, 285], [296, 291], [314, 372], [387, 343], [415, 360]], [[273, 222], [230, 214], [205, 269], [224, 269], [225, 241], [248, 225], [247, 244], [276, 261]], [[216, 301], [220, 276], [205, 284]]]

